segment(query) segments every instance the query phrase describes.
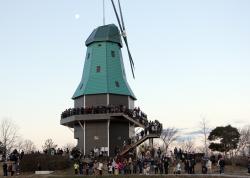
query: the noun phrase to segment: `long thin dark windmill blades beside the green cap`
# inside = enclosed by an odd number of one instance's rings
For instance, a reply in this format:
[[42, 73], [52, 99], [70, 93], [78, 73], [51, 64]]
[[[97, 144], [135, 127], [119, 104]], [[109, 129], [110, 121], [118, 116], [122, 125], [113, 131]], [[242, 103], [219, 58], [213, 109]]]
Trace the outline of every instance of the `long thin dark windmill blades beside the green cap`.
[[[120, 10], [120, 15], [121, 15], [121, 20], [119, 18], [118, 13], [117, 13], [114, 1], [111, 0], [111, 3], [112, 3], [112, 6], [113, 6], [113, 9], [114, 9], [114, 12], [115, 12], [115, 16], [116, 16], [116, 19], [117, 19], [117, 22], [118, 22], [118, 25], [119, 25], [123, 40], [124, 40], [125, 45], [127, 47], [129, 62], [130, 62], [130, 67], [131, 67], [131, 71], [132, 71], [132, 74], [133, 74], [133, 78], [135, 78], [135, 75], [134, 75], [134, 61], [133, 61], [133, 58], [132, 58], [132, 55], [130, 53], [129, 46], [128, 46], [128, 40], [127, 40], [127, 36], [126, 36], [126, 33], [125, 33], [125, 25], [124, 25], [124, 21], [123, 21], [120, 1], [118, 1], [118, 3], [119, 3], [119, 10]], [[122, 24], [121, 24], [121, 21], [122, 21]]]

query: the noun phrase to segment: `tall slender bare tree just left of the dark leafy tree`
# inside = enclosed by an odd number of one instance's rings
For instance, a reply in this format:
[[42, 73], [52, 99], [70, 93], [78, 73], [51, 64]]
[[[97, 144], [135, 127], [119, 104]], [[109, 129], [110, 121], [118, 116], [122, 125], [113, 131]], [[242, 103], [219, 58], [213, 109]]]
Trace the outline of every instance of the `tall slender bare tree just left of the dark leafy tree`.
[[200, 127], [201, 127], [201, 134], [203, 135], [203, 151], [205, 152], [206, 155], [208, 155], [208, 135], [210, 132], [210, 128], [208, 127], [208, 121], [206, 120], [205, 117], [201, 117], [201, 121], [200, 121]]

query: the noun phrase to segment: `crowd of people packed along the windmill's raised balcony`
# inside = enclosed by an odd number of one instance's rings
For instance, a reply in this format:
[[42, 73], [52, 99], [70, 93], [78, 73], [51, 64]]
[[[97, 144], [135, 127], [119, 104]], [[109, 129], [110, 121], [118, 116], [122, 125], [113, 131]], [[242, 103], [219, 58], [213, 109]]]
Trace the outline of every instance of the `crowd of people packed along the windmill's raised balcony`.
[[147, 115], [144, 112], [142, 112], [139, 107], [135, 107], [134, 109], [128, 109], [124, 105], [69, 108], [62, 112], [61, 119], [74, 116], [74, 115], [107, 114], [107, 113], [124, 113], [127, 116], [133, 118], [134, 120], [136, 120], [137, 122], [140, 122], [143, 125], [148, 124]]

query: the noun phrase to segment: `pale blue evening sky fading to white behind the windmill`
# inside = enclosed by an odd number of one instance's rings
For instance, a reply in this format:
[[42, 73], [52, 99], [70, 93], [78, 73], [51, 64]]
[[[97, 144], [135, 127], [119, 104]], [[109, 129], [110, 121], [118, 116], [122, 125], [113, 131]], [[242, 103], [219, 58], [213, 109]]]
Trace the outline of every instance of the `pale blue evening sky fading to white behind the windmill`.
[[[121, 0], [136, 106], [164, 128], [195, 133], [250, 124], [249, 0]], [[116, 23], [105, 0], [106, 24]], [[38, 148], [75, 143], [60, 125], [73, 107], [85, 40], [103, 24], [102, 0], [0, 0], [0, 119]]]

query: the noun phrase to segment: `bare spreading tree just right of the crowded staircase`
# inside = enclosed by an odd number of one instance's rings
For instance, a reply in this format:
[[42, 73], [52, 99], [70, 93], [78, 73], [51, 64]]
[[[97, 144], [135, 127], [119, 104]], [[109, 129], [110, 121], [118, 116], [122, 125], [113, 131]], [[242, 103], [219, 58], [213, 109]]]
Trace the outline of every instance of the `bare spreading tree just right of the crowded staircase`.
[[169, 146], [178, 138], [178, 130], [175, 128], [166, 128], [163, 129], [161, 133], [161, 139], [164, 142], [166, 151], [168, 150]]

